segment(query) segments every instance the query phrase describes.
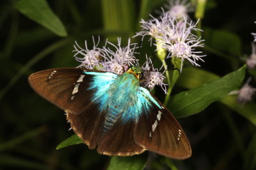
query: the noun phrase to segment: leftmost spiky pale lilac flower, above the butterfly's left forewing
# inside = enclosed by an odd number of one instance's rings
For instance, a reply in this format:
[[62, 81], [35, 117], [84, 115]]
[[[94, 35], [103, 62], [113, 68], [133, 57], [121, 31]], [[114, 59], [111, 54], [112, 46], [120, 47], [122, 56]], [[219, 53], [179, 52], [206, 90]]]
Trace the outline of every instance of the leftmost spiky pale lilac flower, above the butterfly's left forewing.
[[93, 69], [93, 67], [99, 66], [101, 49], [98, 48], [97, 46], [99, 45], [100, 39], [97, 44], [95, 44], [94, 38], [92, 38], [92, 39], [93, 39], [93, 49], [92, 50], [88, 50], [86, 41], [84, 42], [85, 49], [81, 48], [75, 41], [75, 44], [74, 44], [75, 50], [73, 52], [76, 52], [74, 55], [76, 60], [81, 62], [81, 65], [79, 67]]

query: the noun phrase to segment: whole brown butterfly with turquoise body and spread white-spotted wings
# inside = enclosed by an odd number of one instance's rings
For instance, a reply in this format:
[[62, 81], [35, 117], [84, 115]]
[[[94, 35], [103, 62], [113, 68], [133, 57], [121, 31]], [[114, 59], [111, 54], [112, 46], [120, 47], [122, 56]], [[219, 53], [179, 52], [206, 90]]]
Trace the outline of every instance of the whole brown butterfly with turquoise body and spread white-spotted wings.
[[47, 69], [31, 74], [31, 87], [65, 110], [74, 132], [90, 149], [131, 156], [148, 150], [187, 159], [191, 147], [172, 113], [141, 87], [138, 66], [120, 75], [81, 68]]

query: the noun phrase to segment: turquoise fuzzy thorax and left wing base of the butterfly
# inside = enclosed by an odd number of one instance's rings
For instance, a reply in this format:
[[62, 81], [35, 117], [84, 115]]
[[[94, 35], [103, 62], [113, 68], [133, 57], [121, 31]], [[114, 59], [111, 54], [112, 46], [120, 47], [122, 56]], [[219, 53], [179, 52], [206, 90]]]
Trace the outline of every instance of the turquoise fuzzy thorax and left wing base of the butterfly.
[[136, 121], [139, 113], [134, 106], [138, 103], [138, 99], [134, 96], [137, 96], [140, 87], [139, 80], [129, 73], [113, 76], [113, 80], [110, 78], [108, 81], [100, 81], [103, 82], [102, 85], [97, 84], [98, 78], [95, 79], [90, 83], [89, 88], [96, 92], [92, 102], [99, 104], [99, 111], [106, 111], [106, 120], [109, 118], [113, 123], [117, 117], [122, 117], [124, 123], [129, 119]]

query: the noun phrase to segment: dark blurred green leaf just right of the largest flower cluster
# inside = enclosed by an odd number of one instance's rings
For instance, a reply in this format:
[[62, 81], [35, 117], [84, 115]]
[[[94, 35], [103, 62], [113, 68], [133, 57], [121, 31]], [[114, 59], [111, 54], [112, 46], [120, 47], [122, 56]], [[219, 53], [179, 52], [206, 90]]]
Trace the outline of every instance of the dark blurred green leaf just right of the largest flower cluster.
[[220, 52], [241, 56], [241, 39], [232, 32], [205, 29], [205, 42]]

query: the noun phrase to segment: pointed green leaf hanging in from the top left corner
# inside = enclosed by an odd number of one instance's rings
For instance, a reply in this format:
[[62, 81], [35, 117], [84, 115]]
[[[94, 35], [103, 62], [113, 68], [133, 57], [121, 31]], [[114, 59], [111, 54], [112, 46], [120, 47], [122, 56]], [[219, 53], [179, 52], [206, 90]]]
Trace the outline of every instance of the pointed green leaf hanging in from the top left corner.
[[53, 13], [45, 0], [20, 0], [15, 8], [26, 17], [43, 25], [58, 36], [67, 36], [66, 29], [61, 20]]

